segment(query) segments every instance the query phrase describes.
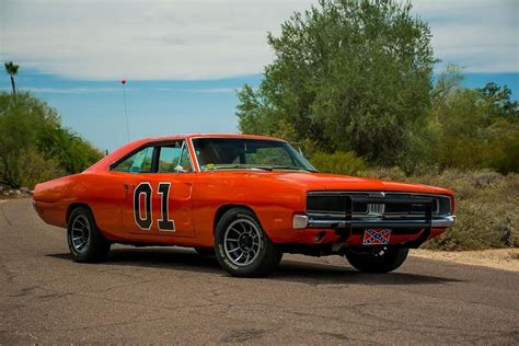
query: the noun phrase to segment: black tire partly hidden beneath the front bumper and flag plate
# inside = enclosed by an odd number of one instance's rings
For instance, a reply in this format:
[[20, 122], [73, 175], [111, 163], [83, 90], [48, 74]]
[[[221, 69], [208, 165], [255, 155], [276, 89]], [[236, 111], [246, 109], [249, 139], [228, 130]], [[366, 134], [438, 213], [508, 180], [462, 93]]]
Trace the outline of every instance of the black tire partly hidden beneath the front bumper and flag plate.
[[364, 273], [389, 273], [399, 268], [407, 258], [408, 249], [388, 247], [383, 254], [380, 250], [371, 252], [348, 251], [346, 258], [349, 264], [359, 272]]

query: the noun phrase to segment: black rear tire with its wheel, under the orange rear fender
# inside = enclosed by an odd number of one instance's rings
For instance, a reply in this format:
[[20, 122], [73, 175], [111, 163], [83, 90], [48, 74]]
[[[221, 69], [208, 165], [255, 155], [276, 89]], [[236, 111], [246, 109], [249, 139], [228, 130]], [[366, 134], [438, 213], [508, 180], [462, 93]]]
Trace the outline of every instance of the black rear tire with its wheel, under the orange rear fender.
[[67, 243], [73, 260], [80, 263], [105, 260], [111, 246], [111, 243], [101, 234], [92, 211], [86, 207], [78, 207], [70, 214], [67, 224]]

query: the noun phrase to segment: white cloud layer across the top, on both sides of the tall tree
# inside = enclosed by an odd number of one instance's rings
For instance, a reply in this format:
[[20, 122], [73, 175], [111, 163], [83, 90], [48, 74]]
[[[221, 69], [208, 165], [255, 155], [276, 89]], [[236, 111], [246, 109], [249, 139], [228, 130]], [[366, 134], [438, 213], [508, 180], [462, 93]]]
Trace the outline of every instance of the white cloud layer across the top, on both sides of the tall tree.
[[[81, 79], [205, 79], [258, 73], [266, 32], [311, 0], [0, 1], [0, 58]], [[519, 71], [518, 2], [413, 1], [437, 57], [469, 71]]]

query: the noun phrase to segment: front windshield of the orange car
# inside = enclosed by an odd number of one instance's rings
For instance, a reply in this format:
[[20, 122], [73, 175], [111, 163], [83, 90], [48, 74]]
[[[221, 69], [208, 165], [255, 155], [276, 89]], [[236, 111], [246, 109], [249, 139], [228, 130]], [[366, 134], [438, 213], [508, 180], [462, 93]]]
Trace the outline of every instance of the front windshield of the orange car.
[[193, 139], [201, 171], [208, 170], [296, 170], [315, 169], [285, 141], [246, 138]]

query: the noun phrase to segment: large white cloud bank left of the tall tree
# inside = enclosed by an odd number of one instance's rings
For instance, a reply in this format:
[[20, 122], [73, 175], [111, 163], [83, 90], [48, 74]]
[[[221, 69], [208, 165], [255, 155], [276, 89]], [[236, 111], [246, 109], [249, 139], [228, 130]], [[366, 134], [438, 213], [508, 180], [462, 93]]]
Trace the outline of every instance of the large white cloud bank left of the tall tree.
[[267, 31], [308, 0], [0, 1], [4, 55], [86, 79], [199, 79], [257, 73]]

